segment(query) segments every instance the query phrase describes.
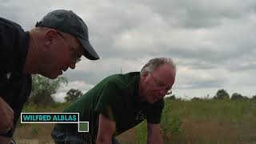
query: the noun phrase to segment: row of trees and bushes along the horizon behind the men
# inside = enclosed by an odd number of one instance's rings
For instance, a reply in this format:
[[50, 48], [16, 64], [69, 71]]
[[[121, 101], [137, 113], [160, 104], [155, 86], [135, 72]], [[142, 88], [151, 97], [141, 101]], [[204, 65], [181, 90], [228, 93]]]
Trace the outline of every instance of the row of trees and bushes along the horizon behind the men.
[[[29, 101], [27, 104], [32, 105], [49, 105], [54, 102], [54, 98], [52, 98], [53, 94], [56, 94], [58, 89], [61, 86], [66, 86], [68, 83], [67, 78], [58, 77], [56, 79], [50, 79], [42, 77], [39, 74], [32, 75], [32, 93], [30, 94]], [[79, 97], [82, 96], [82, 91], [78, 89], [70, 89], [65, 96], [66, 102], [74, 102]], [[207, 99], [209, 95], [207, 95]], [[170, 95], [168, 97], [170, 99], [176, 99], [175, 95]], [[203, 98], [194, 97], [191, 100], [202, 100]], [[243, 96], [242, 94], [234, 93], [228, 94], [226, 90], [221, 89], [218, 90], [214, 95], [213, 99], [230, 99], [230, 100], [240, 100], [240, 99], [252, 99], [256, 100], [256, 95], [253, 95], [252, 98], [248, 98], [247, 96]]]

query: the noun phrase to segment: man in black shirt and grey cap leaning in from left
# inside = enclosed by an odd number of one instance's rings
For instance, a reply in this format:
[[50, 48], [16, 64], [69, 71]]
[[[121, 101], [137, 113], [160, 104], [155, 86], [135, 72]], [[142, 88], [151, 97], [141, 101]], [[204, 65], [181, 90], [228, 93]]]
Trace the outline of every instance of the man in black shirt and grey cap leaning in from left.
[[0, 18], [0, 143], [10, 143], [30, 95], [31, 74], [57, 78], [82, 55], [99, 58], [85, 22], [71, 10], [54, 10], [27, 32]]

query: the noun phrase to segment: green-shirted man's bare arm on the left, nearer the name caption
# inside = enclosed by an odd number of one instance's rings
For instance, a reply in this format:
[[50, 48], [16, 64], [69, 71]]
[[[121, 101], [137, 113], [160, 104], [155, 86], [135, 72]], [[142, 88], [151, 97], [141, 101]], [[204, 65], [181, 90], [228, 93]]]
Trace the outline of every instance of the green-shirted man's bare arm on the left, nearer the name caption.
[[112, 136], [114, 134], [114, 129], [115, 122], [100, 114], [98, 121], [98, 135], [96, 143], [112, 144]]

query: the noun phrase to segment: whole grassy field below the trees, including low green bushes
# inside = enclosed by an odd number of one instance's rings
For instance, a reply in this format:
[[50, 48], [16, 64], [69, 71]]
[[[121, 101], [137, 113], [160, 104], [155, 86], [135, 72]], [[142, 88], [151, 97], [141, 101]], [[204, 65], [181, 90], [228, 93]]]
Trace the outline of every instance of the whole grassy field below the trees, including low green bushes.
[[[26, 106], [24, 112], [61, 112], [67, 103]], [[248, 99], [198, 101], [166, 98], [162, 114], [165, 143], [256, 143], [256, 102]], [[53, 143], [52, 124], [18, 124], [20, 143]], [[146, 122], [118, 136], [122, 143], [146, 143]]]

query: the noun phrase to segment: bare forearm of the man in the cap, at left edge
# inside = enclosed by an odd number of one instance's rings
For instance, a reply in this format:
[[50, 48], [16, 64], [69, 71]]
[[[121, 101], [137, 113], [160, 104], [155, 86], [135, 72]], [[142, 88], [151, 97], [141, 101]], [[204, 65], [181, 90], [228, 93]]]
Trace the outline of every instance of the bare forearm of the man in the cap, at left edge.
[[7, 134], [14, 124], [14, 110], [0, 97], [0, 134]]

